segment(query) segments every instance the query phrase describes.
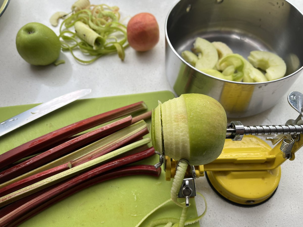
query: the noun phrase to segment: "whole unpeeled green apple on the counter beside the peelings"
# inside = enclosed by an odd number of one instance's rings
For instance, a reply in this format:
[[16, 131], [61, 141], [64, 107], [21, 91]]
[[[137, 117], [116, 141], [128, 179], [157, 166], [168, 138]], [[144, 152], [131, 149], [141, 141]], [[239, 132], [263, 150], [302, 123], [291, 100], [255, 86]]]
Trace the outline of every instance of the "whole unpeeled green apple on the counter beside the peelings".
[[32, 65], [48, 65], [60, 54], [61, 43], [52, 29], [40, 23], [24, 25], [17, 33], [17, 51]]

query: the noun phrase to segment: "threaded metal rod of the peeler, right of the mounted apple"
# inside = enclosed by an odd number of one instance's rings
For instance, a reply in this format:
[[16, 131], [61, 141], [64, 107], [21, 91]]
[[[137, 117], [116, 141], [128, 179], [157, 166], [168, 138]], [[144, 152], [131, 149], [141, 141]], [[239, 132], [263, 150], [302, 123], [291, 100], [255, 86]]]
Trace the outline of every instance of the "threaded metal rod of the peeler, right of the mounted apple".
[[226, 133], [226, 139], [238, 141], [243, 135], [300, 134], [303, 133], [303, 125], [244, 126], [240, 121], [231, 121], [227, 124]]

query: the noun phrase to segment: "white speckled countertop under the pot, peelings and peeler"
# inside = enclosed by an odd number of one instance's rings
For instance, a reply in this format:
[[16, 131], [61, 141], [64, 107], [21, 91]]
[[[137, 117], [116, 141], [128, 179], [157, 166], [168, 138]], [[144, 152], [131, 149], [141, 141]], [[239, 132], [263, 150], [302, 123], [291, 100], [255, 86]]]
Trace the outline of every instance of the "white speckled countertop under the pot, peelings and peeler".
[[[92, 3], [98, 1], [91, 0]], [[100, 1], [99, 1], [100, 2]], [[11, 1], [0, 18], [0, 107], [41, 103], [59, 95], [81, 88], [92, 88], [85, 98], [115, 96], [171, 90], [165, 77], [166, 15], [175, 0], [101, 1], [120, 7], [122, 18], [139, 12], [150, 12], [157, 18], [160, 40], [154, 49], [137, 53], [132, 48], [125, 50], [125, 61], [117, 55], [98, 59], [91, 65], [77, 63], [69, 52], [60, 58], [66, 61], [59, 66], [35, 67], [25, 62], [18, 54], [15, 37], [18, 30], [29, 22], [40, 22], [52, 28], [50, 16], [57, 11], [68, 11], [69, 1]], [[289, 0], [303, 12], [302, 0]], [[58, 34], [58, 28], [53, 28]], [[303, 40], [302, 40], [303, 41]], [[303, 77], [299, 77], [287, 94], [302, 90]], [[254, 117], [242, 118], [244, 125], [284, 124], [298, 116], [287, 102], [287, 94], [275, 107]], [[219, 198], [208, 185], [205, 177], [197, 179], [197, 190], [204, 194], [208, 211], [200, 221], [201, 226], [303, 226], [303, 150], [294, 161], [282, 165], [281, 181], [275, 195], [265, 204], [242, 208]], [[197, 198], [198, 213], [203, 202]]]

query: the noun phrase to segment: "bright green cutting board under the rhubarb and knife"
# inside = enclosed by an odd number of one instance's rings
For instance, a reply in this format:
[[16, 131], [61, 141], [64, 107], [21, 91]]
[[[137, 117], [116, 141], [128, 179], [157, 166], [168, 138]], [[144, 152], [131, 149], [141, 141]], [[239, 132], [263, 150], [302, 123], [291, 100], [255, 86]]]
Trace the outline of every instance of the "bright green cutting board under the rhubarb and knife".
[[[45, 115], [11, 133], [0, 137], [0, 153], [14, 148], [50, 131], [138, 101], [145, 101], [148, 110], [174, 98], [170, 91], [132, 94], [115, 97], [82, 99]], [[15, 116], [37, 104], [2, 107], [0, 121]], [[150, 120], [147, 121], [150, 123]], [[150, 136], [150, 135], [148, 135]], [[145, 161], [154, 165], [159, 160], [155, 155]], [[133, 227], [152, 209], [170, 197], [172, 181], [165, 181], [165, 172], [159, 177], [122, 176], [96, 184], [56, 203], [25, 221], [21, 226], [125, 226]], [[194, 199], [191, 199], [189, 217], [196, 217]], [[141, 226], [151, 220], [181, 215], [179, 206], [172, 202], [150, 216]], [[1, 212], [1, 210], [0, 210]], [[199, 226], [198, 223], [188, 226]]]

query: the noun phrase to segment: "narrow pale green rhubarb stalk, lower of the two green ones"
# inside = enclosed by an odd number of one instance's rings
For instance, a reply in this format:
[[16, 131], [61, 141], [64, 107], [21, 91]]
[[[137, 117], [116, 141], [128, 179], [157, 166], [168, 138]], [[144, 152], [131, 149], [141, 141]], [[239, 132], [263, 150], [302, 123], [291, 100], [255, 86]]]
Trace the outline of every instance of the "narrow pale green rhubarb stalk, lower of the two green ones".
[[3, 196], [0, 198], [0, 207], [6, 206], [14, 201], [17, 201], [18, 199], [22, 199], [25, 196], [31, 195], [32, 193], [38, 192], [48, 186], [54, 185], [55, 183], [61, 182], [62, 180], [68, 179], [69, 177], [75, 176], [78, 173], [82, 173], [85, 170], [91, 169], [95, 166], [100, 165], [101, 163], [104, 163], [105, 161], [108, 161], [118, 155], [124, 154], [130, 150], [133, 150], [139, 146], [143, 146], [147, 143], [149, 143], [151, 140], [150, 138], [145, 138], [139, 141], [136, 141], [134, 143], [131, 143], [129, 145], [126, 145], [122, 148], [119, 148], [115, 151], [112, 151], [110, 153], [107, 153], [103, 156], [100, 156], [98, 158], [95, 158], [93, 160], [90, 160], [86, 163], [83, 163], [79, 166], [75, 166], [71, 169], [65, 170], [61, 173], [58, 173], [54, 176], [50, 176], [44, 180], [41, 180], [37, 183], [34, 183], [32, 185], [26, 186], [22, 189], [19, 189], [15, 192], [12, 192], [6, 196]]

